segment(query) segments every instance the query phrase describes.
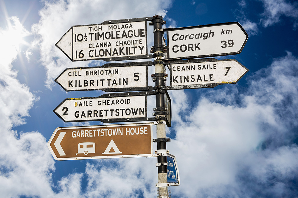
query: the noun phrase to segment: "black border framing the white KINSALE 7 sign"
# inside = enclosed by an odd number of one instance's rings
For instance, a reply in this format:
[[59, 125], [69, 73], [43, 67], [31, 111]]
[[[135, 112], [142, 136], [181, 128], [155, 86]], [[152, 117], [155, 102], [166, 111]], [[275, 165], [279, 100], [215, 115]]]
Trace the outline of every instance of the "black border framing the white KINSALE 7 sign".
[[[172, 85], [172, 64], [187, 64], [187, 63], [201, 63], [201, 62], [221, 62], [221, 61], [236, 61], [240, 66], [242, 66], [244, 69], [246, 69], [246, 72], [238, 78], [237, 81], [233, 83], [206, 83], [206, 84], [193, 84], [193, 85]], [[238, 81], [246, 75], [247, 72], [249, 72], [249, 69], [247, 69], [245, 66], [243, 66], [241, 63], [239, 63], [235, 59], [222, 59], [218, 60], [215, 58], [201, 58], [201, 59], [191, 59], [191, 60], [175, 60], [175, 61], [169, 61], [167, 65], [170, 68], [170, 86], [164, 86], [164, 89], [166, 90], [176, 90], [176, 89], [198, 89], [198, 88], [214, 88], [217, 85], [226, 85], [226, 84], [236, 84]]]

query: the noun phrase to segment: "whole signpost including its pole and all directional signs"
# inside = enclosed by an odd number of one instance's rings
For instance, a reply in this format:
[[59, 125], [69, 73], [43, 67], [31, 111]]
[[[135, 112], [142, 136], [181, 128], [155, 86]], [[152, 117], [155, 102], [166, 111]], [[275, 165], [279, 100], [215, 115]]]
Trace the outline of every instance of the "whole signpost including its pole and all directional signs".
[[[154, 45], [148, 55], [147, 21], [153, 25]], [[238, 54], [248, 34], [238, 22], [162, 28], [161, 16], [110, 20], [72, 26], [56, 43], [71, 61], [119, 61], [155, 58], [154, 62], [105, 64], [68, 68], [55, 81], [66, 91], [142, 91], [68, 98], [53, 110], [64, 122], [157, 121], [155, 123], [57, 128], [48, 142], [56, 160], [157, 156], [158, 197], [167, 187], [180, 185], [176, 157], [168, 154], [165, 124], [171, 126], [171, 99], [167, 90], [212, 88], [237, 83], [249, 70], [235, 59], [206, 58]], [[163, 33], [167, 33], [167, 46]], [[167, 54], [164, 52], [167, 51]], [[182, 60], [189, 58], [205, 58]], [[155, 67], [155, 87], [148, 86], [148, 65]], [[170, 69], [170, 86], [165, 65]], [[151, 91], [154, 90], [154, 91]], [[147, 117], [147, 95], [155, 95], [156, 108]], [[156, 153], [152, 125], [156, 124]]]

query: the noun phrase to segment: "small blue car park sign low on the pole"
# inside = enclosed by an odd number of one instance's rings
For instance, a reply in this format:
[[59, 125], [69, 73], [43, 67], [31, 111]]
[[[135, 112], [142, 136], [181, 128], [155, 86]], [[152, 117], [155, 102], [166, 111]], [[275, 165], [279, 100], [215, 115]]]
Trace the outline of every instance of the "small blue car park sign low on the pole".
[[180, 185], [179, 170], [176, 164], [176, 157], [170, 154], [167, 154], [167, 182], [175, 183], [171, 185]]

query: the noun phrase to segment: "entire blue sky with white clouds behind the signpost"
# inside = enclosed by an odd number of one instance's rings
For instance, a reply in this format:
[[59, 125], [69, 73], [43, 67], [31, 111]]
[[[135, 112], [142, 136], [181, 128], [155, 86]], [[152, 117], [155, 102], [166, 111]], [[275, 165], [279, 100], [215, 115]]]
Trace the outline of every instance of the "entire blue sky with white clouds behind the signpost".
[[[156, 14], [164, 28], [238, 21], [249, 35], [240, 54], [215, 57], [250, 70], [237, 84], [169, 91], [167, 149], [181, 177], [172, 197], [298, 196], [296, 1], [0, 0], [0, 7], [1, 197], [156, 197], [156, 158], [55, 161], [47, 148], [57, 127], [103, 124], [64, 123], [52, 112], [65, 98], [104, 94], [64, 91], [54, 81], [61, 72], [106, 63], [72, 62], [55, 43], [73, 25]], [[152, 32], [148, 26], [149, 47]], [[148, 97], [148, 115], [154, 105]]]

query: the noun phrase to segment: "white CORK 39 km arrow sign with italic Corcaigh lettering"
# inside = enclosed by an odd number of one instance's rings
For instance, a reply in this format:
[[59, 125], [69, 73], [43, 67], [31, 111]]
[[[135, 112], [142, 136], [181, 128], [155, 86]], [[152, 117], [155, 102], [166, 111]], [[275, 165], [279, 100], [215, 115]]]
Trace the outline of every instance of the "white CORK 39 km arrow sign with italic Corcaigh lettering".
[[238, 22], [163, 30], [167, 32], [169, 60], [238, 54], [248, 39]]

